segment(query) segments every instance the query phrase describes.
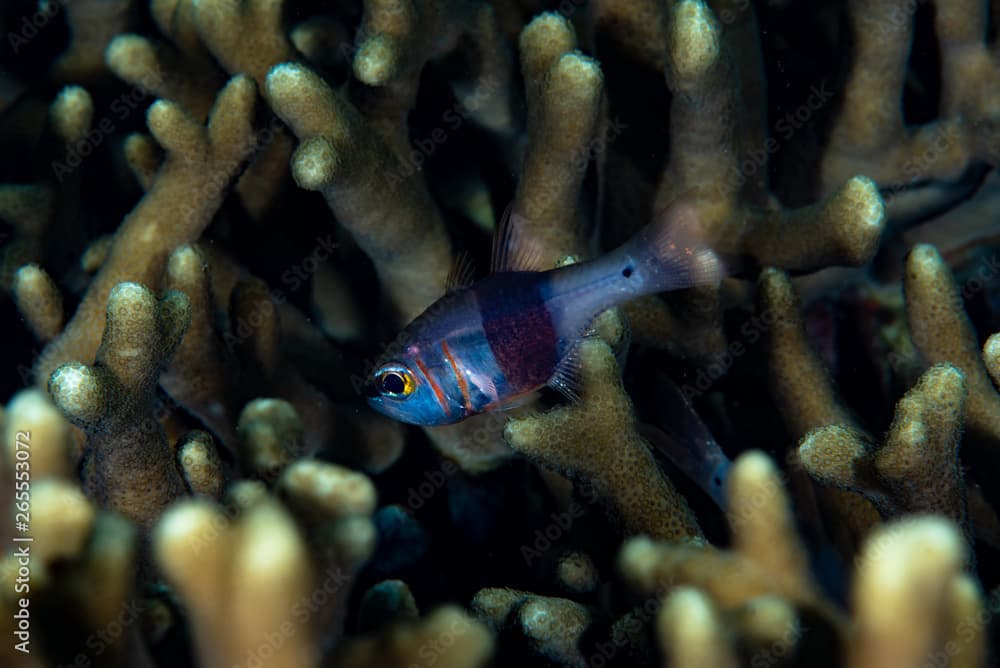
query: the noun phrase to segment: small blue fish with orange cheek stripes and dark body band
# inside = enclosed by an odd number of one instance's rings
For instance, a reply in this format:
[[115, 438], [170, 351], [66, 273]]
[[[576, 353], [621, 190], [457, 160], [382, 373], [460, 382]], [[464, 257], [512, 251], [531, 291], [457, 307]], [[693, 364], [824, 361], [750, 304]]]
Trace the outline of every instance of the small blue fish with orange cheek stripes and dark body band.
[[375, 365], [368, 403], [396, 420], [431, 426], [520, 405], [546, 385], [575, 399], [575, 351], [598, 314], [722, 278], [722, 263], [699, 243], [698, 229], [694, 209], [682, 201], [619, 248], [543, 271], [523, 219], [505, 216], [492, 273], [453, 286], [406, 326]]

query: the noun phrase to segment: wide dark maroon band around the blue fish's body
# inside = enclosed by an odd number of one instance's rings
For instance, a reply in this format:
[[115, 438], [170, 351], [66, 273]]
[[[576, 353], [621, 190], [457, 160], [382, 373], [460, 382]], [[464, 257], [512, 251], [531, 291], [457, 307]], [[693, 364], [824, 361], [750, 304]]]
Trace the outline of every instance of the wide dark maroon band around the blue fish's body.
[[514, 391], [544, 385], [559, 361], [543, 281], [542, 274], [508, 272], [475, 288], [486, 341]]

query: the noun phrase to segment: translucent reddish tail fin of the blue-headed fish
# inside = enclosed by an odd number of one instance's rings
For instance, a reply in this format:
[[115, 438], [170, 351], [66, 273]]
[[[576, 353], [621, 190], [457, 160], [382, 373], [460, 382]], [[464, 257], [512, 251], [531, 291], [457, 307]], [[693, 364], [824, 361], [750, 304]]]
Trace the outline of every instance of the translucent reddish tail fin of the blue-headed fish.
[[643, 292], [718, 283], [727, 274], [722, 258], [704, 240], [697, 211], [683, 198], [664, 209], [623, 247], [643, 282]]

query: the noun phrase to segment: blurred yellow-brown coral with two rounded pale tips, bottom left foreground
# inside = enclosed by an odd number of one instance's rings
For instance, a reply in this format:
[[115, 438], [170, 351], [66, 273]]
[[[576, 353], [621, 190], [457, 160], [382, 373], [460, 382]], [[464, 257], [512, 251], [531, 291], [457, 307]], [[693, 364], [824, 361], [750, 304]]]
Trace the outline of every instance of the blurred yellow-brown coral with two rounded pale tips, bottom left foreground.
[[288, 512], [261, 499], [230, 522], [203, 501], [178, 505], [154, 535], [156, 560], [183, 597], [205, 665], [266, 653], [275, 666], [318, 665], [308, 603], [316, 575]]

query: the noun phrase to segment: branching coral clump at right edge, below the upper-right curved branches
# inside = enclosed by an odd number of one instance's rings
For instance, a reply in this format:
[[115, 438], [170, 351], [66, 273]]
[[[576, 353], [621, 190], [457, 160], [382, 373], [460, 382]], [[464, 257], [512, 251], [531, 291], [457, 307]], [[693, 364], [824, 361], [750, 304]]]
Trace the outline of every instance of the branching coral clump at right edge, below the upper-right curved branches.
[[[760, 305], [775, 319], [769, 334], [773, 392], [782, 402], [792, 435], [801, 439], [797, 460], [816, 480], [852, 493], [831, 501], [845, 517], [856, 520], [855, 533], [867, 531], [875, 521], [868, 511], [859, 514], [863, 508], [853, 493], [864, 495], [883, 518], [936, 512], [953, 519], [971, 537], [969, 492], [958, 450], [966, 421], [973, 430], [974, 415], [991, 414], [973, 411], [969, 373], [978, 374], [985, 400], [995, 398], [996, 392], [957, 288], [933, 248], [911, 252], [904, 285], [914, 342], [939, 364], [897, 404], [882, 445], [876, 446], [841, 406], [805, 338], [790, 283], [779, 272], [769, 271], [761, 279]], [[977, 513], [978, 517], [984, 525], [992, 522], [989, 513]]]

